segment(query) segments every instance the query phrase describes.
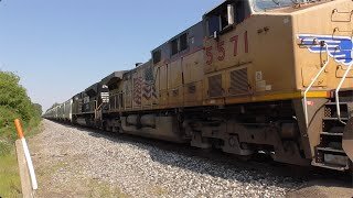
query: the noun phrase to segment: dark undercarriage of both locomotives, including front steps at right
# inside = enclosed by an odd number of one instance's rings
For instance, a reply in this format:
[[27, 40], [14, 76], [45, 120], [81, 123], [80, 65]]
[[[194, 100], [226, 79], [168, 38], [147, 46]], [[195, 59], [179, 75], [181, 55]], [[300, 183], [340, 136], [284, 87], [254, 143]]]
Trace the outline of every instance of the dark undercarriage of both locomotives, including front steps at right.
[[[342, 100], [346, 105], [342, 107], [343, 116], [350, 119], [353, 99], [342, 97]], [[224, 107], [103, 111], [99, 120], [93, 113], [73, 118], [81, 125], [190, 143], [194, 147], [218, 148], [245, 158], [263, 153], [281, 163], [347, 170], [352, 168], [349, 158], [352, 155], [352, 128], [338, 123], [332, 99], [310, 99], [308, 128], [301, 99]], [[352, 122], [350, 119], [349, 125]]]

